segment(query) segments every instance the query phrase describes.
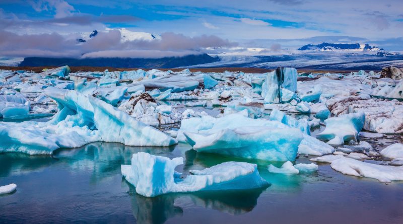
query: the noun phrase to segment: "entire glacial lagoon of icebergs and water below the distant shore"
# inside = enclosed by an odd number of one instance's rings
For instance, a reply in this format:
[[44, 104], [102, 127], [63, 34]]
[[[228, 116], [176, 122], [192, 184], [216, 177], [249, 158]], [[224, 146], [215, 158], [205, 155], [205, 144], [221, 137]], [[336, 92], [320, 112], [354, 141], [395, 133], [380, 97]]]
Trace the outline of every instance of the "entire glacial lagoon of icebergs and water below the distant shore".
[[0, 222], [403, 221], [403, 81], [69, 71], [0, 73]]

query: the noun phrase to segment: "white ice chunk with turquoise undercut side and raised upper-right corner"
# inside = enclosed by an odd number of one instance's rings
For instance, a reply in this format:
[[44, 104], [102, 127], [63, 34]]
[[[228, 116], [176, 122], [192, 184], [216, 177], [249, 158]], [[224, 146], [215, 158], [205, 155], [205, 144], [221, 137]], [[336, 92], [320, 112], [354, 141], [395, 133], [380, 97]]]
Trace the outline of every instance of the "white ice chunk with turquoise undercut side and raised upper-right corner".
[[363, 112], [344, 114], [339, 117], [331, 117], [324, 121], [326, 128], [316, 135], [320, 140], [327, 140], [328, 144], [343, 144], [345, 141], [358, 141], [358, 132], [364, 126], [365, 115]]

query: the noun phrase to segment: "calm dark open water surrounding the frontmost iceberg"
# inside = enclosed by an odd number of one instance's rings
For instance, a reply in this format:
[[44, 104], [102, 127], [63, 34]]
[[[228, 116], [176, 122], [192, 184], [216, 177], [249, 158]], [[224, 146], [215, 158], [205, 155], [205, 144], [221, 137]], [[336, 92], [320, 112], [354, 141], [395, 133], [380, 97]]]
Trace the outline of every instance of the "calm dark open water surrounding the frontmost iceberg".
[[[53, 156], [0, 154], [0, 222], [131, 223], [403, 223], [403, 183], [346, 176], [320, 164], [317, 173], [268, 173], [270, 163], [198, 154], [186, 144], [130, 147], [92, 143]], [[146, 198], [122, 179], [133, 153], [184, 157], [178, 171], [226, 161], [257, 163], [266, 189], [168, 194]], [[308, 163], [300, 158], [299, 163]]]

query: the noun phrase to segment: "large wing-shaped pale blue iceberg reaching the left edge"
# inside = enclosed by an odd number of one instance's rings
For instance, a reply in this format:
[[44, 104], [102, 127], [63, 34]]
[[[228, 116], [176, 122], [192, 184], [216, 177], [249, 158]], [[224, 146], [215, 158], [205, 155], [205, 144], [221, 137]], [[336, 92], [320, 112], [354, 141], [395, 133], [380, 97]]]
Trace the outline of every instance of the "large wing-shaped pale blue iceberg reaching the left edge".
[[48, 122], [0, 122], [0, 153], [52, 154], [59, 147], [79, 147], [94, 141], [135, 146], [177, 143], [92, 96], [54, 87], [46, 88], [46, 94], [58, 103], [59, 111]]

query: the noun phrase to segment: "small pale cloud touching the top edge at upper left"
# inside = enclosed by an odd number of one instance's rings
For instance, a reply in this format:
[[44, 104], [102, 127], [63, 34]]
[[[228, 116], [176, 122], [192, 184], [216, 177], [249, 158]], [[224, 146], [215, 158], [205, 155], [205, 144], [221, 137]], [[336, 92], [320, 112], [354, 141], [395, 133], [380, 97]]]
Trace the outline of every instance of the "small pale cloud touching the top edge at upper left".
[[74, 7], [63, 0], [31, 0], [28, 4], [36, 12], [49, 11], [54, 12], [55, 18], [72, 16], [75, 11]]

